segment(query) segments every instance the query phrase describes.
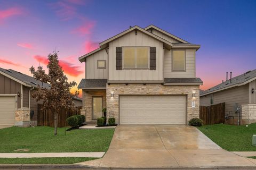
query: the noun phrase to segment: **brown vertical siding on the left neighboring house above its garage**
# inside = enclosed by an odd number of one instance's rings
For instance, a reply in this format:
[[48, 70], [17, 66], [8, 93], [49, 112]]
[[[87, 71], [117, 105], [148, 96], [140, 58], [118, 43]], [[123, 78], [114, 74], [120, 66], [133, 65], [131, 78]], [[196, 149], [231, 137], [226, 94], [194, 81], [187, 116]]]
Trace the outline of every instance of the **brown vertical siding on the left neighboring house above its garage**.
[[[14, 94], [20, 92], [20, 83], [0, 74], [0, 94]], [[20, 92], [21, 93], [21, 92]], [[20, 108], [20, 97], [17, 96], [18, 108]]]

